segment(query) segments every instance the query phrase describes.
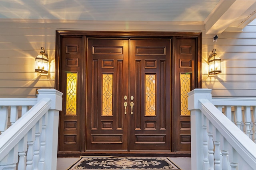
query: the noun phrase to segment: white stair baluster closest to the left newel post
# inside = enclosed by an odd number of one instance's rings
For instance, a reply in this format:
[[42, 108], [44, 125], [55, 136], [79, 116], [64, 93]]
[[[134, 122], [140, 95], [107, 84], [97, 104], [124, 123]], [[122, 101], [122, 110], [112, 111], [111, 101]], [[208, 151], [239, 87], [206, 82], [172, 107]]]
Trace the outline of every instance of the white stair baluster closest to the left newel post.
[[38, 163], [38, 169], [44, 170], [45, 169], [45, 144], [46, 144], [46, 125], [48, 119], [48, 111], [42, 117], [42, 133], [40, 136], [40, 160]]

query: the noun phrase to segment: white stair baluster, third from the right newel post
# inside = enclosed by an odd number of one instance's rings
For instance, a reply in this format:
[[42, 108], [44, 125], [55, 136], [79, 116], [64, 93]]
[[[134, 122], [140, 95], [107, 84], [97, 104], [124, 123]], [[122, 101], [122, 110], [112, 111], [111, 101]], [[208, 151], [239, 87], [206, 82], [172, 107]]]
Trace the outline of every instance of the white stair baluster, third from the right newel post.
[[220, 166], [220, 132], [215, 129], [215, 133], [213, 134], [213, 140], [214, 140], [214, 170], [221, 170]]

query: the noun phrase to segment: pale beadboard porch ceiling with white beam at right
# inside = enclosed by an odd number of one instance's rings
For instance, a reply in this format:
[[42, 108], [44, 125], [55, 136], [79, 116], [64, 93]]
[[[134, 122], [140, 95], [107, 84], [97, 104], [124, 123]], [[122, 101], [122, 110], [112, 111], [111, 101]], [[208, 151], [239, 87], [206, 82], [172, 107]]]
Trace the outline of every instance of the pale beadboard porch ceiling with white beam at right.
[[146, 21], [239, 31], [256, 18], [256, 0], [0, 0], [0, 19]]

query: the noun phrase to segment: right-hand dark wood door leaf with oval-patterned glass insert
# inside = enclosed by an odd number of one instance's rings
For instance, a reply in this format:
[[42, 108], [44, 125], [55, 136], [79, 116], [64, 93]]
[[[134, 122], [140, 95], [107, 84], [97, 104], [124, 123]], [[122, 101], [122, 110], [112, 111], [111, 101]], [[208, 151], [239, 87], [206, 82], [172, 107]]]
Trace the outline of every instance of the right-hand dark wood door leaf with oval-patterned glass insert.
[[130, 150], [170, 151], [170, 39], [130, 41]]

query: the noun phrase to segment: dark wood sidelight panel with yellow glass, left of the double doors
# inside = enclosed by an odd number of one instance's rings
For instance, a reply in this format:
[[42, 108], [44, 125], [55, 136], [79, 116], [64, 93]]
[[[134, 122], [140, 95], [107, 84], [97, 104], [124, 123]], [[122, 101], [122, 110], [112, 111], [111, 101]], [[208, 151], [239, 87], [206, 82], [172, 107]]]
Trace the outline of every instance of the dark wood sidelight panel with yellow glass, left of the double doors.
[[[81, 126], [84, 121], [83, 117], [84, 107], [82, 101], [83, 96], [80, 94], [70, 95], [67, 89], [69, 82], [76, 82], [76, 90], [82, 92], [82, 62], [84, 59], [82, 36], [67, 36], [62, 37], [60, 53], [60, 91], [63, 92], [63, 107], [60, 111], [59, 122], [59, 152], [80, 152], [82, 150]], [[78, 63], [79, 62], [79, 63]], [[73, 90], [73, 89], [71, 89]], [[68, 94], [68, 95], [67, 95]], [[70, 105], [70, 102], [74, 102]], [[80, 101], [76, 103], [76, 101]]]

